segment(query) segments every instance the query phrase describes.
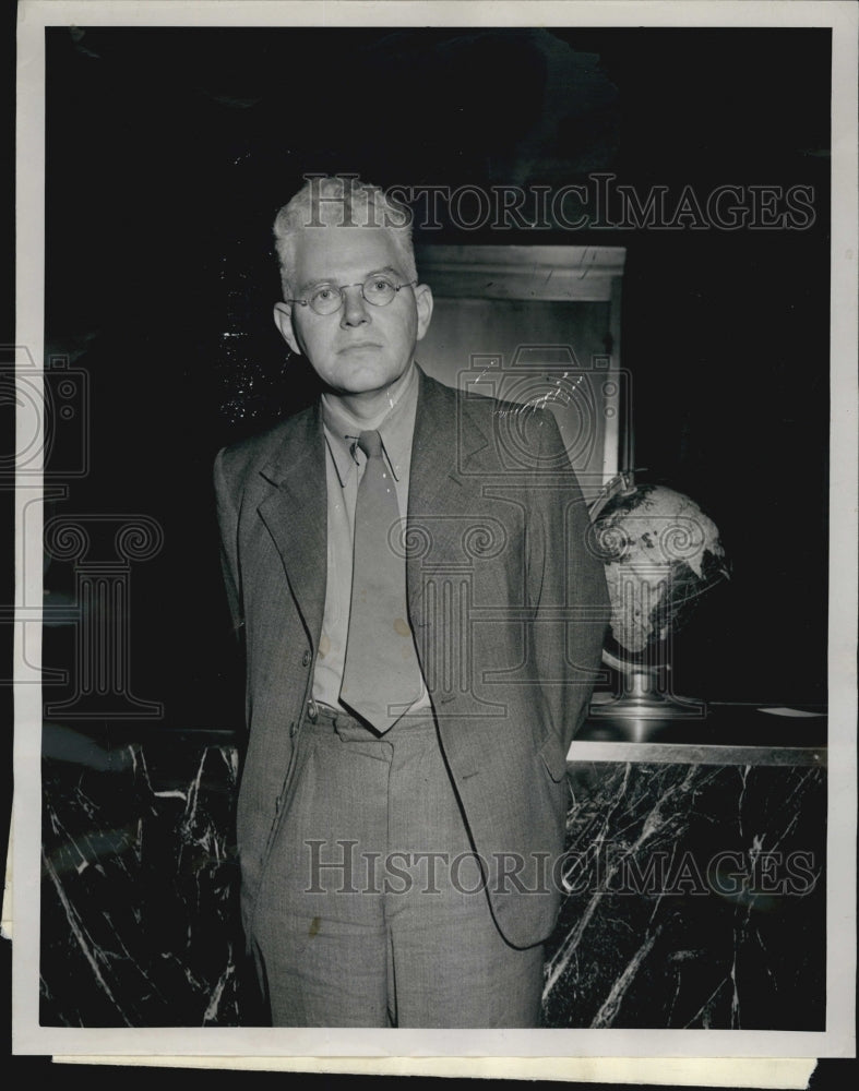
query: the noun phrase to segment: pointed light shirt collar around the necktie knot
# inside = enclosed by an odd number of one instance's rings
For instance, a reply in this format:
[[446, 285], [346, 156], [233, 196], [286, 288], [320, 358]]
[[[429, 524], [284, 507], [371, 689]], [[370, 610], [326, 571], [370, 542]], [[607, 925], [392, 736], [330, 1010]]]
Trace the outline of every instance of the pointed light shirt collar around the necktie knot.
[[[325, 440], [337, 470], [341, 485], [345, 487], [358, 465], [358, 436], [363, 430], [360, 421], [343, 406], [336, 396], [323, 394], [322, 422]], [[382, 440], [382, 449], [394, 479], [399, 481], [408, 468], [411, 439], [418, 404], [418, 369], [409, 364], [405, 386], [397, 395], [382, 420], [375, 425]]]

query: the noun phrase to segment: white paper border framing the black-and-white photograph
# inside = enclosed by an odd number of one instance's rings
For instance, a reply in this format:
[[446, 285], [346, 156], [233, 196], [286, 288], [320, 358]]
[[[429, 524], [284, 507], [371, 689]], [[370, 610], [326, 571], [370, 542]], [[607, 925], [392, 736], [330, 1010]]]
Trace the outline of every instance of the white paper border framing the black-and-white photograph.
[[[833, 29], [832, 445], [830, 598], [830, 822], [827, 1029], [825, 1032], [723, 1030], [344, 1031], [333, 1029], [48, 1028], [38, 1021], [40, 692], [15, 693], [14, 1036], [15, 1053], [256, 1057], [822, 1057], [855, 1051], [856, 861], [856, 346], [857, 336], [857, 8], [852, 3], [773, 2], [140, 2], [23, 0], [19, 13], [16, 344], [36, 360], [44, 340], [45, 27], [100, 26], [823, 26]], [[24, 506], [37, 485], [16, 492], [16, 606], [40, 597], [24, 587], [37, 563], [40, 521], [23, 540]], [[38, 521], [38, 520], [37, 520]], [[31, 531], [33, 533], [31, 535]], [[31, 561], [36, 560], [35, 558]], [[35, 574], [35, 575], [34, 575]], [[15, 626], [16, 678], [40, 663], [39, 620]]]

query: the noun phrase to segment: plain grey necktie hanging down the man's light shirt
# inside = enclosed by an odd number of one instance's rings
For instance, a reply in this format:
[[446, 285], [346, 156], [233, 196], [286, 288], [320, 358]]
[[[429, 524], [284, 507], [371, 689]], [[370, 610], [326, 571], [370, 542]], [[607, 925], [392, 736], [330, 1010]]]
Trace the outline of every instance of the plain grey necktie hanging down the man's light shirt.
[[[361, 432], [367, 456], [355, 506], [351, 607], [341, 699], [378, 731], [387, 731], [421, 691], [406, 610], [406, 562], [389, 531], [399, 523], [394, 480], [379, 432]], [[391, 538], [397, 540], [396, 531]]]

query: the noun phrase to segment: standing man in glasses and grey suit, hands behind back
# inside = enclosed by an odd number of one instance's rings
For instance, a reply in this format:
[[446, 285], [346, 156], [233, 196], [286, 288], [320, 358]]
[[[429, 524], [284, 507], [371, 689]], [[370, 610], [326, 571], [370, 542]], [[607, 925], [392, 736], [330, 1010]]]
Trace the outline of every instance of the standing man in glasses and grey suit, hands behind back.
[[550, 412], [419, 369], [432, 293], [379, 189], [312, 179], [275, 241], [275, 322], [322, 394], [215, 467], [272, 1019], [537, 1026], [607, 616], [582, 494]]

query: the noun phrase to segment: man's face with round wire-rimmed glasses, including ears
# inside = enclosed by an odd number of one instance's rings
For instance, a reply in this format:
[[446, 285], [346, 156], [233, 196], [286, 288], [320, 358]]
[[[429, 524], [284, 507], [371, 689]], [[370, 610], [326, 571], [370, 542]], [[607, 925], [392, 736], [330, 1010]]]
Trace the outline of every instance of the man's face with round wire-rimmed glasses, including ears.
[[275, 322], [289, 347], [342, 394], [390, 387], [411, 362], [432, 315], [427, 285], [401, 289], [385, 307], [368, 303], [360, 285], [373, 273], [386, 273], [397, 285], [408, 280], [390, 231], [305, 228], [296, 245], [295, 298], [308, 299], [320, 284], [356, 287], [345, 289], [334, 314], [317, 314], [300, 303], [275, 304]]

